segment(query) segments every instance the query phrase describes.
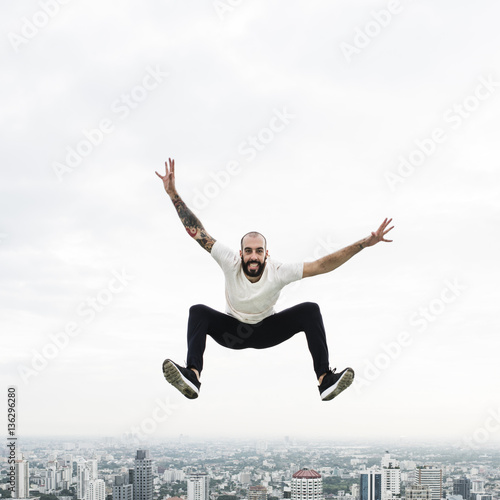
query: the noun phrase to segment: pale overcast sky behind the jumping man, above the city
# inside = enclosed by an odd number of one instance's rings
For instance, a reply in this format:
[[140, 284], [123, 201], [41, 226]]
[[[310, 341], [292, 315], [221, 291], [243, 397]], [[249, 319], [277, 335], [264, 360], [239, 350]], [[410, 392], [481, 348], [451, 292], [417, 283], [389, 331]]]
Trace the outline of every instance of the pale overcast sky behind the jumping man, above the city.
[[[2, 10], [0, 356], [20, 436], [499, 440], [498, 2]], [[196, 401], [165, 382], [189, 307], [225, 305], [154, 174], [168, 157], [215, 239], [258, 230], [277, 261], [393, 218], [393, 243], [278, 303], [320, 305], [332, 367], [356, 371], [338, 399], [303, 334], [209, 340]]]

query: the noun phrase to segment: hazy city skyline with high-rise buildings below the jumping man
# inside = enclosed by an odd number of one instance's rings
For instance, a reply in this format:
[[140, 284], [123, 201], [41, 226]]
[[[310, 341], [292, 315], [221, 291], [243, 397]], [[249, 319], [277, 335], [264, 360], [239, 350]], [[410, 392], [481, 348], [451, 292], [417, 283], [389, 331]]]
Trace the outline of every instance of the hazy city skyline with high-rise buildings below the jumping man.
[[[329, 448], [297, 446], [290, 440], [253, 444], [235, 440], [145, 449], [112, 441], [86, 448], [80, 448], [84, 442], [54, 442], [49, 447], [33, 442], [26, 446], [25, 466], [16, 477], [24, 484], [28, 469], [32, 498], [59, 491], [64, 500], [136, 496], [143, 500], [497, 500], [500, 494], [498, 449], [494, 454], [470, 456], [439, 446], [384, 452], [371, 446]], [[68, 475], [68, 467], [72, 474]], [[7, 468], [6, 460], [0, 459], [0, 479]], [[387, 482], [384, 471], [390, 470], [399, 474]], [[151, 487], [145, 488], [147, 484]], [[0, 481], [0, 496], [6, 486]]]

